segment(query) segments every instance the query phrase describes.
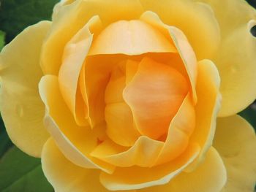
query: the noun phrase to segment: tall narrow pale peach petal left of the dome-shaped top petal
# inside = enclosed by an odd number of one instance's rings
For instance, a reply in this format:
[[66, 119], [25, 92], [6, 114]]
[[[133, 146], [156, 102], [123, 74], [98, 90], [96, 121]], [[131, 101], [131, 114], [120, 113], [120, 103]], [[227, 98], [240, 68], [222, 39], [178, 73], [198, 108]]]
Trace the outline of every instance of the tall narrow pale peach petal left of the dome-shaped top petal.
[[[83, 28], [75, 34], [74, 37], [67, 43], [64, 48], [63, 62], [59, 70], [59, 87], [61, 89], [64, 101], [66, 101], [69, 110], [71, 110], [76, 122], [80, 126], [88, 125], [86, 117], [88, 117], [89, 109], [86, 109], [86, 114], [79, 115], [79, 108], [82, 108], [83, 102], [78, 106], [77, 93], [78, 79], [86, 55], [91, 47], [93, 35], [90, 27], [98, 25], [100, 20], [98, 17], [93, 17]], [[85, 106], [88, 108], [89, 106]]]

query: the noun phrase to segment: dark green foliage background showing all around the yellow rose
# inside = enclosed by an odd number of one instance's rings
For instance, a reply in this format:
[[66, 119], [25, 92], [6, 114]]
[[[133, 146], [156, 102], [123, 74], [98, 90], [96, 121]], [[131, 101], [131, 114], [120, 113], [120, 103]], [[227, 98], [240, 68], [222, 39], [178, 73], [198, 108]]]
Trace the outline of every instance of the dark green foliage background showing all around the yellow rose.
[[[50, 20], [53, 5], [57, 2], [56, 0], [0, 0], [0, 50], [27, 26], [39, 20]], [[248, 2], [256, 8], [256, 0], [248, 0]], [[256, 37], [256, 26], [252, 28], [252, 34]], [[256, 102], [239, 115], [246, 118], [256, 128]], [[13, 146], [1, 117], [0, 191], [54, 191], [42, 173], [40, 159], [32, 158]]]

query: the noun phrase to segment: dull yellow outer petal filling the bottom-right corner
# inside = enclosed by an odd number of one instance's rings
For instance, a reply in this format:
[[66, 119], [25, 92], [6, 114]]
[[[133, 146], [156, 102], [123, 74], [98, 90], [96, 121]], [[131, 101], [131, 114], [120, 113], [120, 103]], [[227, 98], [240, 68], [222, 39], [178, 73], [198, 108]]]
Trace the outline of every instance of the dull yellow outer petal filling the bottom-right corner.
[[252, 126], [238, 115], [219, 118], [214, 147], [227, 168], [222, 192], [252, 192], [256, 181], [256, 137]]

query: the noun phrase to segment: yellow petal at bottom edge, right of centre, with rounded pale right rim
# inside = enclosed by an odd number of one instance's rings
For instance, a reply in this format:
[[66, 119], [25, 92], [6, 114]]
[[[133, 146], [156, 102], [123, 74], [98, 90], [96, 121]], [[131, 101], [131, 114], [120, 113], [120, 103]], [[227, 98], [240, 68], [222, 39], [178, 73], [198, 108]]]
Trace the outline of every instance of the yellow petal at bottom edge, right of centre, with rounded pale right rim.
[[206, 160], [194, 172], [182, 172], [166, 185], [145, 188], [140, 192], [220, 192], [226, 180], [227, 174], [222, 158], [217, 150], [211, 147], [206, 154]]

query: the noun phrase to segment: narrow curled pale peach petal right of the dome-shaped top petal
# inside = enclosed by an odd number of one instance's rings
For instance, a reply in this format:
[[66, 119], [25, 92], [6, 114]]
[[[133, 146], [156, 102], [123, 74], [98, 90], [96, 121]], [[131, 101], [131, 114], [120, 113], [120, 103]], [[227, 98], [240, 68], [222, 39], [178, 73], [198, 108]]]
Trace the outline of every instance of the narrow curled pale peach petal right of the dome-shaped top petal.
[[[193, 99], [196, 103], [197, 94], [195, 91], [195, 84], [197, 80], [197, 58], [183, 31], [174, 26], [165, 25], [165, 23], [162, 23], [162, 20], [160, 20], [159, 16], [154, 12], [144, 12], [143, 15], [140, 16], [140, 20], [145, 20], [147, 23], [157, 27], [158, 30], [162, 31], [162, 34], [165, 34], [168, 39], [172, 39], [187, 71], [187, 76], [191, 82]], [[180, 66], [180, 68], [183, 68], [183, 66]]]

